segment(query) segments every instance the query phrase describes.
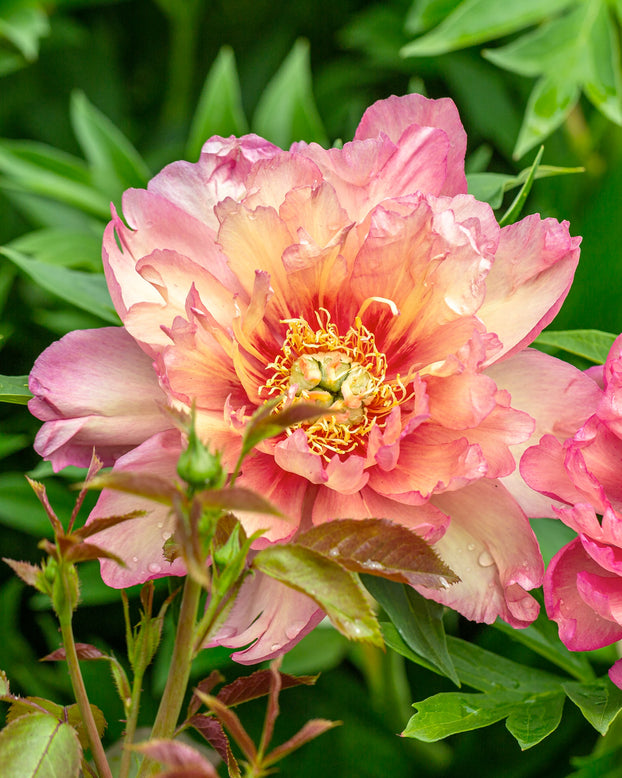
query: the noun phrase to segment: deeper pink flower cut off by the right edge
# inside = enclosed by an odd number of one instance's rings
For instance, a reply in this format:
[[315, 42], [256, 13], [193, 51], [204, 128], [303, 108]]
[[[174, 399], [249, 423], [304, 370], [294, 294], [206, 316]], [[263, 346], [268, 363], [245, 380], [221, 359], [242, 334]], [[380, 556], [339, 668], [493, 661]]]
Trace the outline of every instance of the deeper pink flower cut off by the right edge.
[[[544, 579], [547, 613], [573, 651], [622, 639], [622, 336], [589, 372], [603, 387], [593, 414], [565, 439], [545, 435], [521, 461], [525, 480], [577, 533]], [[609, 676], [622, 688], [622, 660]]]

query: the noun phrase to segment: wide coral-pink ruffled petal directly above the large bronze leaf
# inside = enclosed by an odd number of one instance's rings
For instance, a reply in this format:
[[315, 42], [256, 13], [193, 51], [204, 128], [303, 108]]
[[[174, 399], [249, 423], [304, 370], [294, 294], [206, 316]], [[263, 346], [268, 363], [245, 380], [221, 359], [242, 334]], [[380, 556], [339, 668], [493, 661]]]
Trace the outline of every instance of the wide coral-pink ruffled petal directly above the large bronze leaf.
[[320, 487], [313, 503], [314, 524], [331, 519], [388, 519], [416, 532], [428, 543], [442, 537], [449, 518], [429, 502], [406, 504], [366, 487], [356, 494], [339, 494]]

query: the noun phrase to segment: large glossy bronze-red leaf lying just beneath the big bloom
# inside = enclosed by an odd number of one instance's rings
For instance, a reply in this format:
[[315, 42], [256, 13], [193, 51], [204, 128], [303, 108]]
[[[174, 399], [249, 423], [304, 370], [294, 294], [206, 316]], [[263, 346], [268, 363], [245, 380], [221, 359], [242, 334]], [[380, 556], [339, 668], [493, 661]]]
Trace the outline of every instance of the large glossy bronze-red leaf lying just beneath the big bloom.
[[388, 519], [335, 519], [302, 533], [296, 543], [348, 570], [411, 586], [440, 589], [460, 580], [425, 540]]

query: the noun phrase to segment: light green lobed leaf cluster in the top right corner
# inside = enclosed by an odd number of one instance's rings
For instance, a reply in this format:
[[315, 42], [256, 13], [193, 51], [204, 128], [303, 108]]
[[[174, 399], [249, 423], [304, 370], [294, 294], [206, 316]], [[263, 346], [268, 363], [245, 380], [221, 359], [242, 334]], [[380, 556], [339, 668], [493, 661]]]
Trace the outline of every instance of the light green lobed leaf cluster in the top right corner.
[[514, 148], [520, 158], [561, 125], [581, 92], [608, 119], [622, 124], [621, 19], [622, 5], [610, 0], [419, 0], [405, 27], [426, 34], [401, 53], [438, 56], [535, 26], [483, 52], [499, 67], [538, 79]]

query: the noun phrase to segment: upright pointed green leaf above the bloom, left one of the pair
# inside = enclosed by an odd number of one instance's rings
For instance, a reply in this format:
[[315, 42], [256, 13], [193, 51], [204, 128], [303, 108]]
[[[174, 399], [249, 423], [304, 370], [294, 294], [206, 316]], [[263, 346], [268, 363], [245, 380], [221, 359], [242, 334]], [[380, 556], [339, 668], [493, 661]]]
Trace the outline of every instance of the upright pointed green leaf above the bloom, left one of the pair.
[[212, 135], [244, 135], [248, 122], [242, 108], [235, 56], [223, 46], [210, 68], [190, 126], [186, 156], [198, 159], [201, 147]]

